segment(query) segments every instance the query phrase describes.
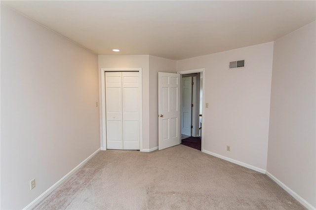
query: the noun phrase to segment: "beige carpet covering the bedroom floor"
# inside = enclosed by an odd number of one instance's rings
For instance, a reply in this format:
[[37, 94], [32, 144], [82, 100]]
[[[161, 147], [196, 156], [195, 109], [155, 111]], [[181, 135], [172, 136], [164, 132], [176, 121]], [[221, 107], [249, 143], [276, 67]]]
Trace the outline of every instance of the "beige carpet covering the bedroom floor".
[[300, 210], [268, 176], [184, 145], [107, 150], [51, 193], [40, 210]]

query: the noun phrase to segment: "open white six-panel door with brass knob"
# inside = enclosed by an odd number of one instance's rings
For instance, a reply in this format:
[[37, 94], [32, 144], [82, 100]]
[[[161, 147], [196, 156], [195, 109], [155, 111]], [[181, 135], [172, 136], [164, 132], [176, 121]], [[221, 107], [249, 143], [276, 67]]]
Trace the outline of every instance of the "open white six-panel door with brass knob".
[[180, 144], [180, 74], [158, 72], [158, 149]]

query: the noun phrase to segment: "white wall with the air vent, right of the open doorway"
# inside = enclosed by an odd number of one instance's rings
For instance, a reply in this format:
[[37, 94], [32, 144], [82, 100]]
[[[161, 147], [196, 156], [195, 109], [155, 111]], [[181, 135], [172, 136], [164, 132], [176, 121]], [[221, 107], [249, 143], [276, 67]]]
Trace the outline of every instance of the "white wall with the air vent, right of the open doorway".
[[[205, 68], [204, 152], [265, 172], [273, 42], [177, 62], [177, 70]], [[229, 61], [245, 68], [229, 70]], [[231, 151], [226, 151], [226, 146]]]

